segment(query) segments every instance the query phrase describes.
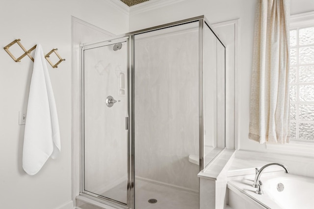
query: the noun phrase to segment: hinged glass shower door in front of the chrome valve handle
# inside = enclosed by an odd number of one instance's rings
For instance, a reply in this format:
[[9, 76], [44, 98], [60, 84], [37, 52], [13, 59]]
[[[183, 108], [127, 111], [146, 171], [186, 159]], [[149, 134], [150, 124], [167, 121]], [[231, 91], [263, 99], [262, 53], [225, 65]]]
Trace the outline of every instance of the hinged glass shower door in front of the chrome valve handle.
[[128, 43], [108, 41], [81, 50], [82, 193], [125, 207], [131, 192]]

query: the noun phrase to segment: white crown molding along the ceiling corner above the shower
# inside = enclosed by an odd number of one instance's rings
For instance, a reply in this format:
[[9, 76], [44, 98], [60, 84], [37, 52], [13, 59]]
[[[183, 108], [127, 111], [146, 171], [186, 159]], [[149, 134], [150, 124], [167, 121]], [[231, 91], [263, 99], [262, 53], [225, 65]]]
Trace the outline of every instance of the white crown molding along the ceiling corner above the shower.
[[108, 2], [111, 6], [120, 10], [121, 12], [127, 15], [132, 15], [157, 9], [163, 6], [168, 6], [170, 4], [178, 3], [184, 0], [148, 0], [130, 7], [127, 4], [123, 3], [121, 0], [105, 0], [105, 1]]

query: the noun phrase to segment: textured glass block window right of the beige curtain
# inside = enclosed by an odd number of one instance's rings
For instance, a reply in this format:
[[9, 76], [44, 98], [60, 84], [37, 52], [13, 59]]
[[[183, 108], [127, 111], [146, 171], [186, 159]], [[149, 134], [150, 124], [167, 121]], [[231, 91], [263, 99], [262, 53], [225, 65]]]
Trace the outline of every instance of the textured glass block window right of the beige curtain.
[[314, 142], [314, 25], [290, 30], [290, 140]]

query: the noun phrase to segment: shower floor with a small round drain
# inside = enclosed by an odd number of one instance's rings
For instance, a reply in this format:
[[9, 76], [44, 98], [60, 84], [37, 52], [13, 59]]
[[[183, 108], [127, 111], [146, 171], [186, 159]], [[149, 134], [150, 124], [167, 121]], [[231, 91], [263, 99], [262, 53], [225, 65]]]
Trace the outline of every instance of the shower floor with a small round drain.
[[[121, 183], [102, 196], [125, 202], [126, 183]], [[156, 199], [157, 203], [148, 200]], [[135, 209], [198, 209], [199, 195], [174, 187], [135, 180]]]

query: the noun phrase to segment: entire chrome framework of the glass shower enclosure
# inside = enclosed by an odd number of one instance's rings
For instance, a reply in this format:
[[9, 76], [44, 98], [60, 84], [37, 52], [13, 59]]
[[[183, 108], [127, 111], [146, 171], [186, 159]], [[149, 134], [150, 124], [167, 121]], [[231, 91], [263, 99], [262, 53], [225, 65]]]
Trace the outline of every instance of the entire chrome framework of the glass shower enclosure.
[[[204, 27], [209, 27], [213, 34], [217, 37], [215, 31], [206, 20], [205, 16], [198, 16], [189, 18], [174, 23], [164, 24], [161, 26], [150, 27], [131, 33], [118, 36], [111, 40], [102, 42], [83, 44], [80, 46], [81, 57], [81, 140], [80, 140], [80, 195], [87, 196], [90, 199], [104, 203], [112, 207], [120, 207], [121, 209], [135, 209], [135, 195], [134, 195], [134, 35], [146, 33], [154, 30], [164, 29], [173, 26], [180, 26], [183, 24], [198, 22], [199, 24], [199, 171], [204, 170], [207, 165], [204, 165]], [[226, 48], [223, 42], [217, 37], [221, 44]], [[127, 42], [128, 46], [128, 116], [129, 116], [129, 130], [128, 130], [128, 190], [127, 190], [127, 204], [122, 204], [105, 197], [99, 197], [93, 193], [84, 190], [84, 80], [83, 80], [83, 66], [84, 66], [84, 50], [116, 43]], [[226, 56], [225, 56], [226, 57]], [[221, 151], [223, 152], [224, 149]], [[220, 152], [220, 153], [221, 153]]]

